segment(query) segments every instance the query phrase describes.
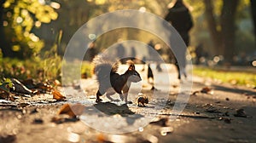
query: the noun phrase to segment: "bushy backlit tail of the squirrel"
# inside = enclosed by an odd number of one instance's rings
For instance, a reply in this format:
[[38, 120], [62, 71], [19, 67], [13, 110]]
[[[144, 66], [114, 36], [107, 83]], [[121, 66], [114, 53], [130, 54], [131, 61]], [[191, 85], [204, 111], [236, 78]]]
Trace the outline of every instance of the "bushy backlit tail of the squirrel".
[[108, 84], [110, 82], [110, 74], [116, 73], [119, 68], [119, 63], [116, 61], [106, 54], [96, 55], [92, 62], [94, 64], [93, 72], [98, 83]]

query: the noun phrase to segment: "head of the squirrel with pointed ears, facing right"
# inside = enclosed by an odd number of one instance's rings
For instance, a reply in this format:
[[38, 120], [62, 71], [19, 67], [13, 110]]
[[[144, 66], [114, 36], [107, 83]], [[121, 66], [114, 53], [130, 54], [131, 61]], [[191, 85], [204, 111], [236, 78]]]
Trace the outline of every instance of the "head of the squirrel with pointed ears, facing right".
[[140, 82], [142, 80], [140, 74], [135, 70], [134, 64], [130, 64], [128, 70], [125, 72], [128, 76], [128, 80], [133, 83]]

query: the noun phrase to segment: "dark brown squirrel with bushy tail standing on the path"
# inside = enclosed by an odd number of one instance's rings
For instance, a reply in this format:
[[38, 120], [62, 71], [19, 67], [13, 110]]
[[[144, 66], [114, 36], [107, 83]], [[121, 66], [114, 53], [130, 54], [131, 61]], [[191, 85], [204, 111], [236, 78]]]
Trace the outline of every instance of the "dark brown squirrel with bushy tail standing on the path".
[[[102, 101], [100, 96], [106, 93], [109, 100], [113, 100], [108, 89], [113, 90], [119, 94], [121, 100], [127, 101], [128, 91], [131, 83], [137, 83], [142, 80], [140, 74], [135, 70], [134, 63], [129, 63], [129, 68], [124, 74], [119, 75], [117, 73], [119, 69], [119, 63], [116, 60], [111, 60], [106, 54], [98, 54], [92, 60], [94, 66], [94, 73], [96, 75], [96, 81], [99, 83], [99, 89], [96, 93], [96, 102]], [[131, 102], [131, 101], [130, 101]]]

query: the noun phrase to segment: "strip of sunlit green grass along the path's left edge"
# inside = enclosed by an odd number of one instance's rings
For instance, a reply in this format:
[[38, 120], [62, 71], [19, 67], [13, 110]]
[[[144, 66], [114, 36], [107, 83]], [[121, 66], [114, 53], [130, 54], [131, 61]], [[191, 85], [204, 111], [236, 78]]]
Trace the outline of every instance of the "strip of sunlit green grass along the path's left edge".
[[0, 72], [3, 77], [15, 77], [22, 79], [38, 79], [45, 81], [59, 79], [61, 75], [61, 57], [57, 55], [54, 45], [52, 49], [43, 55], [19, 60], [14, 58], [0, 58]]

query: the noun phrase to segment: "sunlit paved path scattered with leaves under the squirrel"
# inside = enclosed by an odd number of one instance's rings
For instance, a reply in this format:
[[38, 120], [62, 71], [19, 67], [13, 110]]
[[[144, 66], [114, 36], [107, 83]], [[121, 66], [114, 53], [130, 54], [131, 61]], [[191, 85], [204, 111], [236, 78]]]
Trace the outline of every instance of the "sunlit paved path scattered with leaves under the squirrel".
[[[143, 83], [131, 87], [129, 99], [133, 104], [127, 106], [108, 102], [104, 96], [103, 102], [96, 104], [97, 84], [93, 79], [85, 79], [81, 89], [63, 90], [67, 101], [1, 107], [0, 142], [255, 142], [255, 89], [191, 75], [179, 83], [174, 66], [162, 67], [163, 72], [157, 72], [152, 66], [155, 87], [159, 89], [153, 92], [145, 80], [143, 66], [137, 66]], [[211, 88], [211, 92], [190, 95], [205, 87]], [[146, 107], [137, 106], [138, 92], [148, 96]], [[52, 118], [65, 103], [83, 105], [79, 121], [53, 123]], [[238, 109], [244, 112], [237, 114]]]

